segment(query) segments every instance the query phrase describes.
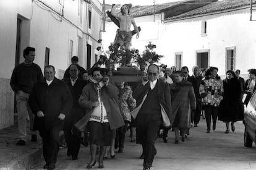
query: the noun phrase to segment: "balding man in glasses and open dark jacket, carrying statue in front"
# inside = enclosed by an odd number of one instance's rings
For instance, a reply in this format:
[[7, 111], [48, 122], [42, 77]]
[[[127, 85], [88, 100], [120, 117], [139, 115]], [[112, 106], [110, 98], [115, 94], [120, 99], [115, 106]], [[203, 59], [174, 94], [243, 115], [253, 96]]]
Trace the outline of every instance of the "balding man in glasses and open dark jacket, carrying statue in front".
[[150, 169], [156, 155], [155, 140], [163, 120], [164, 127], [170, 126], [171, 95], [168, 83], [158, 80], [159, 67], [148, 66], [148, 80], [142, 79], [134, 89], [137, 106], [141, 106], [137, 117], [136, 140], [143, 148], [143, 169]]

